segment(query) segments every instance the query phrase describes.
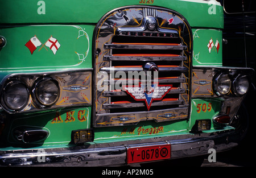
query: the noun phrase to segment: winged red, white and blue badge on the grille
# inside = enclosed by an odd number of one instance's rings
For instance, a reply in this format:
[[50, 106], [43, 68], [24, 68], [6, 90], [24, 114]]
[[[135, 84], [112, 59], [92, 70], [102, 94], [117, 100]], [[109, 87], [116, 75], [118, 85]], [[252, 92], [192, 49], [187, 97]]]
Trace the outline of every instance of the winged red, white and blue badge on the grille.
[[172, 85], [159, 85], [159, 83], [142, 84], [139, 86], [126, 86], [123, 89], [136, 101], [144, 101], [147, 109], [150, 110], [152, 101], [162, 100], [171, 90]]

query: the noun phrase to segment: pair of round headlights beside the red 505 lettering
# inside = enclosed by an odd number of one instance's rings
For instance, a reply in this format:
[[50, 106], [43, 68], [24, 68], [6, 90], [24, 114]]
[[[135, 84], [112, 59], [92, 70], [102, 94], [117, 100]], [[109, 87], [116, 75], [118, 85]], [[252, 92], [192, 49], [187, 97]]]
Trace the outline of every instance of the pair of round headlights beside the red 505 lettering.
[[229, 74], [221, 73], [214, 77], [213, 89], [218, 96], [224, 96], [232, 92], [236, 96], [243, 96], [249, 89], [249, 79], [239, 74], [233, 79]]

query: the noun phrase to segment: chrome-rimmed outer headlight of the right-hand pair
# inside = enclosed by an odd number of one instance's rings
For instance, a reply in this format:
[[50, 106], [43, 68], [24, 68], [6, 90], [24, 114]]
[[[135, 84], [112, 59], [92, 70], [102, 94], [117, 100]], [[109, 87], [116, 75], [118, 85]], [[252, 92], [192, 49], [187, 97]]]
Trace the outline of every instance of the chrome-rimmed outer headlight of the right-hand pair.
[[[245, 86], [246, 89], [243, 92], [240, 91], [240, 87], [241, 87], [240, 82], [241, 82], [241, 80], [245, 80], [245, 81], [243, 81], [243, 82], [245, 82], [243, 84], [246, 85]], [[249, 87], [250, 87], [249, 77], [244, 75], [244, 74], [238, 74], [238, 76], [233, 81], [232, 91], [236, 96], [240, 97], [240, 96], [245, 95], [248, 92]]]

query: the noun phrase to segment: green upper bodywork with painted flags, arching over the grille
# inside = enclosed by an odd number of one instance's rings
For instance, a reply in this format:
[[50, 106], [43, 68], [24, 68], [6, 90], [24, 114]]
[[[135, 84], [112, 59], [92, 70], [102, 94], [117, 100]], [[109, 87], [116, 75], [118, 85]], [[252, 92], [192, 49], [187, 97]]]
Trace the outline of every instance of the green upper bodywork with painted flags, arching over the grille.
[[[154, 3], [148, 4], [140, 3], [139, 0], [97, 2], [66, 0], [44, 1], [46, 14], [38, 14], [40, 4], [38, 5], [37, 2], [0, 1], [0, 36], [4, 36], [7, 41], [0, 53], [0, 71], [38, 72], [92, 68], [92, 39], [95, 24], [109, 11], [128, 5], [152, 5], [179, 12], [193, 29], [193, 65], [221, 65], [222, 48], [218, 53], [212, 52], [210, 55], [205, 49], [210, 38], [214, 43], [216, 39], [221, 42], [222, 31], [206, 30], [204, 27], [223, 28], [222, 6], [211, 5], [205, 1], [195, 3], [155, 0]], [[215, 8], [214, 14], [209, 14], [209, 8], [212, 6]], [[74, 10], [76, 13], [73, 13]], [[60, 48], [56, 55], [45, 45], [38, 47], [31, 55], [25, 44], [33, 36], [36, 36], [42, 44], [46, 43], [51, 36], [57, 39]]]

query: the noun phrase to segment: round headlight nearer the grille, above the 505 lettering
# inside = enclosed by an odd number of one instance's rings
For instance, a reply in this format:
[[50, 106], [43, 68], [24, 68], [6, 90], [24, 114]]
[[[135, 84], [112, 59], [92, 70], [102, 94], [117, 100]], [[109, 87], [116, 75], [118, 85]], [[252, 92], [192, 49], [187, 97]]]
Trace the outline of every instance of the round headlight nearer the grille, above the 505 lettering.
[[223, 96], [230, 92], [232, 82], [228, 74], [222, 73], [215, 78], [213, 84], [216, 94], [218, 96]]

